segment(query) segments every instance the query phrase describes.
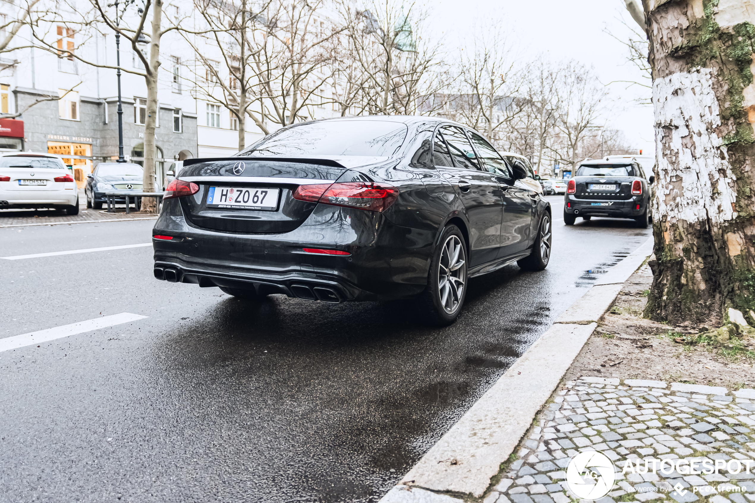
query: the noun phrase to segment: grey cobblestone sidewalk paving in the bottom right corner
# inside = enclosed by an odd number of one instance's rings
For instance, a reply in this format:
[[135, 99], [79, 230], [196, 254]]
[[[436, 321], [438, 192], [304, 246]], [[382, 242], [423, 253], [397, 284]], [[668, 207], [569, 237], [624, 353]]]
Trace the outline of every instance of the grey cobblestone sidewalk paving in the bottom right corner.
[[[536, 426], [535, 426], [536, 425]], [[485, 503], [569, 503], [569, 461], [587, 450], [606, 455], [616, 484], [600, 503], [664, 500], [678, 503], [755, 502], [755, 390], [583, 377], [566, 382], [519, 445], [516, 461], [483, 498]], [[738, 459], [740, 473], [633, 474], [627, 460], [687, 462]], [[644, 462], [643, 462], [644, 465]], [[666, 463], [666, 471], [670, 471]], [[683, 488], [677, 491], [674, 487]]]

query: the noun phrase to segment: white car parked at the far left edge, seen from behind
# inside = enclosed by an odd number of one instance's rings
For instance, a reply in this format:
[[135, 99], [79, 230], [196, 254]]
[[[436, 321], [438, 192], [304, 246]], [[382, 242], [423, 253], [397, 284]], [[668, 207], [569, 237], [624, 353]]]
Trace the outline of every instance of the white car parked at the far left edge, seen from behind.
[[0, 153], [0, 209], [54, 208], [79, 213], [76, 182], [57, 155]]

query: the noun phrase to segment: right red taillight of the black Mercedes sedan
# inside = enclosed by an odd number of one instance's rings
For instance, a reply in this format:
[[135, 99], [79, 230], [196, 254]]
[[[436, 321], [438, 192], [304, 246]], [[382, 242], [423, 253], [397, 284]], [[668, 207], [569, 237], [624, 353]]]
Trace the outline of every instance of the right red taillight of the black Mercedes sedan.
[[370, 211], [387, 210], [398, 196], [399, 189], [396, 187], [369, 182], [323, 183], [298, 186], [294, 191], [294, 199], [299, 201]]

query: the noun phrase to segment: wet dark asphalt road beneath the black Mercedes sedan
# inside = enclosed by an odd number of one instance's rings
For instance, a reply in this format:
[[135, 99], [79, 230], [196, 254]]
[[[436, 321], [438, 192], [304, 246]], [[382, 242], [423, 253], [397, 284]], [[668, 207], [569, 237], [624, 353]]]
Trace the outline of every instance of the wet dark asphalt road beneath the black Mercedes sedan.
[[[560, 219], [541, 272], [470, 281], [456, 324], [152, 277], [151, 247], [2, 265], [0, 501], [377, 501], [600, 274], [650, 234]], [[139, 244], [152, 221], [0, 228], [0, 256]]]

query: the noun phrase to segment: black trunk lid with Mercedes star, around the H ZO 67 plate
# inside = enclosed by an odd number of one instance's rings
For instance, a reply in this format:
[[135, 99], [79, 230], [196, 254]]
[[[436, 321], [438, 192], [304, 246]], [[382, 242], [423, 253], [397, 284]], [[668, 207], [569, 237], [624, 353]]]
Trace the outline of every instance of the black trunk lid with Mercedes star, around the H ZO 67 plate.
[[[183, 213], [190, 223], [201, 228], [246, 234], [278, 234], [291, 232], [301, 225], [316, 207], [316, 203], [299, 201], [293, 192], [300, 185], [332, 183], [347, 168], [328, 159], [298, 158], [222, 158], [186, 160], [179, 179], [199, 186], [195, 195], [179, 198]], [[253, 201], [254, 195], [264, 199], [261, 204], [274, 207], [247, 209], [246, 207], [218, 207], [217, 195], [244, 195]], [[250, 198], [251, 196], [251, 198]], [[211, 201], [216, 204], [211, 204]], [[222, 201], [227, 203], [227, 199]]]

